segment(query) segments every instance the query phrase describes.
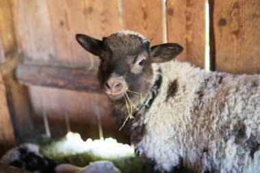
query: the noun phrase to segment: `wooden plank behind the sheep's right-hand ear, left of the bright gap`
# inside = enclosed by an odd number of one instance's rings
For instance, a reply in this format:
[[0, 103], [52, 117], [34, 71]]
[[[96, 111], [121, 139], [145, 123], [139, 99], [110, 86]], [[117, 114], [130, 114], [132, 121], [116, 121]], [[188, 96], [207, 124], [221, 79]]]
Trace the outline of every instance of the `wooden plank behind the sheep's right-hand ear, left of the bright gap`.
[[177, 42], [184, 51], [177, 59], [205, 66], [205, 0], [167, 1], [168, 42]]

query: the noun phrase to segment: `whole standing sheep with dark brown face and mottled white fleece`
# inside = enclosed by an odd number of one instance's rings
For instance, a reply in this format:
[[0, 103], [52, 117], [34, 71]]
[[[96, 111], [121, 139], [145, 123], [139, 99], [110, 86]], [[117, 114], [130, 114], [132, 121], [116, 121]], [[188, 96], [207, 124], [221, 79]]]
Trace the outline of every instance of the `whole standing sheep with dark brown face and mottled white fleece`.
[[101, 59], [99, 83], [120, 124], [128, 115], [125, 95], [136, 104], [136, 93], [142, 94], [123, 128], [155, 171], [183, 165], [194, 172], [260, 172], [260, 75], [207, 72], [171, 61], [181, 45], [151, 46], [134, 31], [76, 39]]

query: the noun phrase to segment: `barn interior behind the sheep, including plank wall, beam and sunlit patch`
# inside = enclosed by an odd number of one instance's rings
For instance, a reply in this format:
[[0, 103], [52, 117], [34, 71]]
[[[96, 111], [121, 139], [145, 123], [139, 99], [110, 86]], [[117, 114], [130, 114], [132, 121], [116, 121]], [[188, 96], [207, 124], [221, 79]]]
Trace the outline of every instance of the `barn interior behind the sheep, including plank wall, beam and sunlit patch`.
[[[177, 57], [206, 70], [260, 74], [258, 0], [1, 0], [0, 158], [32, 143], [57, 163], [112, 161], [143, 172], [97, 79], [99, 58], [75, 34], [129, 29], [151, 44], [177, 42]], [[0, 164], [0, 172], [10, 168]], [[20, 172], [21, 170], [16, 170]]]

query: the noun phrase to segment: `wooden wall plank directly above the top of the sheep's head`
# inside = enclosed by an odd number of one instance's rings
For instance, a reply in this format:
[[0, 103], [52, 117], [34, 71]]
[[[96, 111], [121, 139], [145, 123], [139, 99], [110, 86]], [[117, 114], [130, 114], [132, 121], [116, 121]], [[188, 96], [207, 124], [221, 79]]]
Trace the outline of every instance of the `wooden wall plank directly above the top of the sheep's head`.
[[161, 0], [153, 3], [149, 0], [122, 0], [123, 29], [138, 31], [152, 44], [161, 44], [163, 40], [163, 22]]

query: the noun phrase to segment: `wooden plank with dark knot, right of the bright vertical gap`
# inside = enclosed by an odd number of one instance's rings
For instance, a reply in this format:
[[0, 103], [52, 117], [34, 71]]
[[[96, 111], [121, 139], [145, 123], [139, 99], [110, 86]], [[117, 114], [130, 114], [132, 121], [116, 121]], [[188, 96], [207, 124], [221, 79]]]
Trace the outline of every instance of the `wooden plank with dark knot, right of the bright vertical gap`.
[[216, 70], [260, 73], [260, 1], [214, 1]]

